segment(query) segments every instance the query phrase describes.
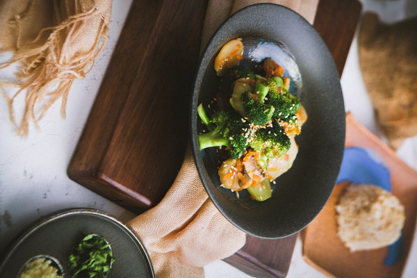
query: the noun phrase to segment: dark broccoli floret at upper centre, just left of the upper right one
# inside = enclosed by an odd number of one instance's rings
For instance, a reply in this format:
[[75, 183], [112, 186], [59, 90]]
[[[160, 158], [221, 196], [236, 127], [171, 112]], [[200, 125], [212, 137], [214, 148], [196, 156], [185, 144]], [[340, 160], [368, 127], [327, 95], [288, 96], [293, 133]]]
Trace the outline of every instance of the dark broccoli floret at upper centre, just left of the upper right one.
[[261, 104], [252, 98], [250, 93], [243, 93], [240, 96], [247, 119], [253, 124], [264, 125], [271, 120], [275, 111], [274, 106]]

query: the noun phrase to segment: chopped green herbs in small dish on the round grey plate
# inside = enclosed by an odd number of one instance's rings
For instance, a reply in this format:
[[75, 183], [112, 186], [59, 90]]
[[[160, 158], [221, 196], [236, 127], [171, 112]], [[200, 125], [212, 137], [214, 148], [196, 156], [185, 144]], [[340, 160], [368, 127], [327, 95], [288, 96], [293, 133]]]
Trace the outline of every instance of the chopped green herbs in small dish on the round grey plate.
[[115, 259], [107, 240], [90, 234], [74, 247], [69, 261], [72, 278], [106, 278]]

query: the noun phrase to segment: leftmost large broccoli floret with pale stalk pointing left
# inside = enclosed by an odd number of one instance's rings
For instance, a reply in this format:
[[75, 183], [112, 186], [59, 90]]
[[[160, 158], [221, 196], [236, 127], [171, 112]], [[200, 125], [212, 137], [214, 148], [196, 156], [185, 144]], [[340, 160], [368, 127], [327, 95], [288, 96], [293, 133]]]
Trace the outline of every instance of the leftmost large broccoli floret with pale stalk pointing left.
[[207, 133], [198, 136], [200, 149], [226, 146], [229, 147], [231, 157], [237, 159], [249, 145], [250, 124], [232, 113], [216, 111], [208, 129]]

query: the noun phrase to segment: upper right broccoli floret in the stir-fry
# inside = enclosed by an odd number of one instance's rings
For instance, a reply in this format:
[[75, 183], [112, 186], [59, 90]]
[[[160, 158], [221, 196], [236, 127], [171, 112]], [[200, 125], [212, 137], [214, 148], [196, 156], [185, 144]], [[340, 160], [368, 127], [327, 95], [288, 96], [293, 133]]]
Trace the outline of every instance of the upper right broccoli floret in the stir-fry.
[[277, 117], [284, 121], [292, 117], [301, 106], [300, 99], [285, 89], [281, 89], [281, 92], [269, 91], [267, 99], [265, 104], [272, 105], [275, 108], [272, 117]]

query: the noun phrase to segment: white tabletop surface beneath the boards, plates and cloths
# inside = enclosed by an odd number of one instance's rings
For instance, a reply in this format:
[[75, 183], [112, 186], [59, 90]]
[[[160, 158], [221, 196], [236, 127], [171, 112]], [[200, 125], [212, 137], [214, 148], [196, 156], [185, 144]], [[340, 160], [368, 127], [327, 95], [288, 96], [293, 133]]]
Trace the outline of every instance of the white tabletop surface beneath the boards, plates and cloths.
[[[375, 10], [386, 22], [393, 22], [409, 17], [414, 10], [417, 11], [413, 9], [416, 5], [412, 6], [411, 1], [366, 1], [364, 10]], [[97, 208], [121, 220], [129, 220], [135, 216], [71, 181], [66, 174], [67, 165], [99, 90], [130, 3], [131, 0], [113, 1], [111, 28], [106, 47], [87, 77], [74, 82], [65, 120], [60, 117], [60, 105], [56, 104], [40, 122], [41, 129], [38, 131], [31, 126], [30, 135], [21, 139], [15, 135], [8, 118], [6, 101], [0, 97], [1, 251], [4, 251], [10, 240], [28, 224], [42, 218], [43, 215], [64, 208]], [[0, 60], [4, 58], [0, 57]], [[0, 79], [11, 76], [13, 70], [15, 69], [2, 70]], [[356, 37], [347, 58], [341, 85], [346, 111], [351, 111], [370, 131], [385, 140], [375, 123], [372, 104], [359, 71]], [[17, 99], [17, 105], [19, 103], [22, 104], [22, 99]], [[417, 169], [417, 137], [406, 140], [397, 154]], [[204, 269], [206, 277], [250, 277], [223, 261], [214, 261]], [[302, 259], [300, 239], [297, 239], [287, 277], [325, 277]], [[403, 277], [417, 277], [416, 242], [409, 254]]]

